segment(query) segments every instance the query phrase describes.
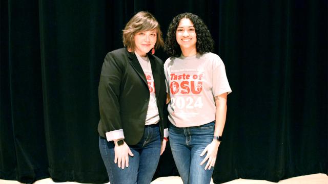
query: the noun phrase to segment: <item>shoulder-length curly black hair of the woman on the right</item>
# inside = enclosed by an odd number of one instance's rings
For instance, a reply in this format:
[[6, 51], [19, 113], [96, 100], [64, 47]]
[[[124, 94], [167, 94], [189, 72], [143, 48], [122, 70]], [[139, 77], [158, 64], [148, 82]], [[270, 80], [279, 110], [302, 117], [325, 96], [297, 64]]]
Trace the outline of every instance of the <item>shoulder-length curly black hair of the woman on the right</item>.
[[180, 57], [181, 49], [176, 41], [176, 29], [182, 18], [190, 19], [196, 31], [197, 42], [196, 51], [199, 54], [206, 52], [213, 52], [214, 50], [214, 40], [207, 26], [204, 24], [201, 18], [192, 13], [181, 13], [173, 18], [168, 29], [167, 37], [164, 44], [164, 50], [167, 54], [175, 57]]

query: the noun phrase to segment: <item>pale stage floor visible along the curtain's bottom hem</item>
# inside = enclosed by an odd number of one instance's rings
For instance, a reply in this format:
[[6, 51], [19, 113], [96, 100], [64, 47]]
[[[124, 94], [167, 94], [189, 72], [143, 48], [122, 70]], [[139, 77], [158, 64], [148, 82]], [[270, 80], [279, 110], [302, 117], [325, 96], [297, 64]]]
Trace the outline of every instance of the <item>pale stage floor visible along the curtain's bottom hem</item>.
[[[11, 180], [2, 180], [0, 179], [1, 184], [19, 184], [18, 181]], [[51, 178], [38, 180], [35, 184], [47, 184], [47, 183], [56, 183], [53, 182]], [[76, 184], [77, 182], [57, 182], [65, 184]], [[211, 182], [213, 183], [213, 182]], [[266, 180], [252, 180], [252, 179], [235, 179], [224, 184], [273, 184], [275, 182], [269, 182]], [[311, 174], [305, 176], [293, 177], [278, 182], [279, 184], [327, 184], [328, 176], [326, 174]], [[109, 184], [109, 183], [108, 183]], [[160, 177], [155, 179], [151, 184], [183, 184], [182, 180], [178, 176], [170, 177]]]

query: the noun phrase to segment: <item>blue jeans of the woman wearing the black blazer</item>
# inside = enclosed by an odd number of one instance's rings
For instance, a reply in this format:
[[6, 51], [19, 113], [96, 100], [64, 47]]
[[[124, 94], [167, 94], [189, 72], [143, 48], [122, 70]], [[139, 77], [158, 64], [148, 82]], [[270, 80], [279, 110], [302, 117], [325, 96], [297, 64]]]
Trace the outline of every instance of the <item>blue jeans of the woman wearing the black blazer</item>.
[[160, 156], [160, 134], [159, 126], [145, 126], [144, 136], [136, 145], [129, 145], [134, 154], [129, 155], [129, 167], [121, 169], [114, 163], [114, 142], [108, 142], [99, 136], [99, 149], [104, 160], [111, 184], [149, 184], [156, 171]]

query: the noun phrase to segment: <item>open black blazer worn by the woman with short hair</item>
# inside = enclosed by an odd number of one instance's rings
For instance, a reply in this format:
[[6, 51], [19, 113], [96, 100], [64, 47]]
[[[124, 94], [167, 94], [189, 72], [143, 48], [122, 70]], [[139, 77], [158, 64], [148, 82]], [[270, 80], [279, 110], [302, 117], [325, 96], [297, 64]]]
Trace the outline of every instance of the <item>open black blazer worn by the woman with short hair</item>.
[[[166, 84], [163, 62], [148, 54], [155, 84], [161, 139], [167, 128]], [[100, 121], [98, 133], [123, 129], [125, 141], [135, 145], [145, 130], [150, 92], [144, 71], [134, 53], [126, 48], [109, 52], [101, 68], [98, 87]]]

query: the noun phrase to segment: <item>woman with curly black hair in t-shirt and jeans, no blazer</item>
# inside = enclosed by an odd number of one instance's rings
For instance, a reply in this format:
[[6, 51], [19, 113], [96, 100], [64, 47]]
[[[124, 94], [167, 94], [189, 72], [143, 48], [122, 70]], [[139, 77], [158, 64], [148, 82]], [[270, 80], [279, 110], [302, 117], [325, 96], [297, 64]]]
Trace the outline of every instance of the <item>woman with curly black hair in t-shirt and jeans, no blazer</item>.
[[213, 45], [197, 15], [173, 18], [165, 41], [172, 57], [164, 70], [171, 97], [170, 146], [183, 183], [210, 183], [226, 122], [231, 88], [222, 60], [211, 53]]

